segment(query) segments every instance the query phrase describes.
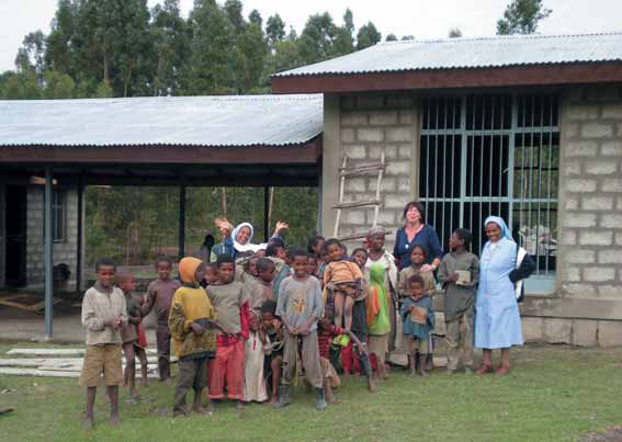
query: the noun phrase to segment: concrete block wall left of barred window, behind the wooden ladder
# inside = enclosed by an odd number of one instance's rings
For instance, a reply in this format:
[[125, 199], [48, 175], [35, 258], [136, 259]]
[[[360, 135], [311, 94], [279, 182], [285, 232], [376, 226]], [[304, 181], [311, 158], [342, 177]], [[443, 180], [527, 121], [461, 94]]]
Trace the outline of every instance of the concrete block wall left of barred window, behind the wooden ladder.
[[[342, 156], [349, 157], [350, 167], [376, 163], [383, 151], [387, 167], [381, 184], [383, 204], [378, 224], [395, 231], [403, 225], [402, 213], [405, 203], [417, 195], [419, 124], [415, 95], [348, 94], [325, 100], [325, 106], [327, 104], [332, 105], [331, 117], [335, 120], [332, 125], [327, 125], [325, 117], [324, 174], [330, 174], [328, 183], [325, 178], [323, 186], [325, 236], [333, 235], [336, 211], [331, 209], [330, 205], [339, 197], [338, 168], [341, 167]], [[327, 129], [332, 129], [332, 134], [327, 134]], [[329, 161], [327, 149], [332, 150]], [[375, 172], [348, 177], [343, 201], [373, 200], [376, 185]], [[343, 209], [339, 235], [365, 233], [373, 225], [373, 207]], [[389, 249], [393, 248], [393, 236], [387, 238]], [[348, 246], [352, 248], [360, 243], [361, 240], [357, 240]]]

